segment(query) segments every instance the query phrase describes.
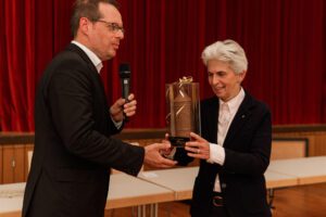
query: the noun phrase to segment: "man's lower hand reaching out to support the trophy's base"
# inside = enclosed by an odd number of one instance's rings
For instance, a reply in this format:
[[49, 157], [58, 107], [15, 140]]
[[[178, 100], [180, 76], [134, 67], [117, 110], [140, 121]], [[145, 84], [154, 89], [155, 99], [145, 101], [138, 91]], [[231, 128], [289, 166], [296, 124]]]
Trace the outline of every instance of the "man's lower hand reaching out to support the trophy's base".
[[168, 142], [153, 143], [145, 146], [143, 163], [151, 167], [168, 168], [177, 164], [176, 161], [167, 159], [161, 155], [161, 151], [168, 150], [171, 144]]

